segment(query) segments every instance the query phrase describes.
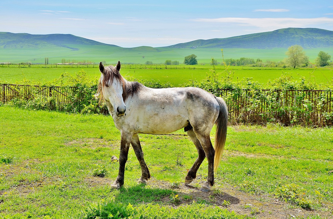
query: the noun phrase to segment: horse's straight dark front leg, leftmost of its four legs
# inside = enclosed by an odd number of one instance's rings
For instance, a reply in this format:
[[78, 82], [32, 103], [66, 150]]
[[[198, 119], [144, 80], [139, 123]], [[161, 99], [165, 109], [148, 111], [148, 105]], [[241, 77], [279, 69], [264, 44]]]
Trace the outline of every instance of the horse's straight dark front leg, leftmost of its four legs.
[[111, 184], [111, 188], [113, 189], [119, 189], [124, 185], [125, 164], [128, 157], [128, 150], [130, 148], [132, 135], [133, 133], [121, 131], [119, 173], [115, 182]]

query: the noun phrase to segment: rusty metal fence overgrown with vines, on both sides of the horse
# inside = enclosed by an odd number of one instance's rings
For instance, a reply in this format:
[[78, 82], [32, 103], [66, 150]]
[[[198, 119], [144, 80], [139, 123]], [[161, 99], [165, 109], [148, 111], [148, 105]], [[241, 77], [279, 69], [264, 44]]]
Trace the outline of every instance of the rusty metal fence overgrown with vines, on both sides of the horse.
[[[225, 100], [233, 122], [333, 125], [332, 91], [217, 89], [210, 92]], [[75, 95], [84, 98], [78, 93], [77, 87], [0, 84], [2, 103], [49, 98], [52, 99], [49, 104], [53, 104], [50, 108], [57, 110], [71, 104]]]

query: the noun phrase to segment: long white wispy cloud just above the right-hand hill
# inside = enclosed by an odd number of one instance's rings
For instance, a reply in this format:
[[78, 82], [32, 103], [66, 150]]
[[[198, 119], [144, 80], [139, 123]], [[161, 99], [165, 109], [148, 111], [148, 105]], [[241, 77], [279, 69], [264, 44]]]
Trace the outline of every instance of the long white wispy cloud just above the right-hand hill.
[[254, 26], [259, 28], [279, 29], [286, 27], [309, 27], [309, 25], [333, 24], [333, 18], [197, 18], [197, 22], [236, 23], [240, 26]]

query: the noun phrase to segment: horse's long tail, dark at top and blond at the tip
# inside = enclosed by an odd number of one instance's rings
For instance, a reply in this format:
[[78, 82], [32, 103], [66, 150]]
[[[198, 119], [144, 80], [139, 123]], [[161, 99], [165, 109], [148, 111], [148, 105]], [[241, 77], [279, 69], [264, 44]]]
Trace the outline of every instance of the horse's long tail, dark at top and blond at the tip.
[[216, 133], [215, 133], [215, 157], [214, 157], [214, 172], [216, 172], [224, 150], [225, 139], [227, 135], [227, 123], [228, 123], [228, 109], [224, 100], [220, 97], [215, 97], [220, 105], [220, 112], [216, 119]]

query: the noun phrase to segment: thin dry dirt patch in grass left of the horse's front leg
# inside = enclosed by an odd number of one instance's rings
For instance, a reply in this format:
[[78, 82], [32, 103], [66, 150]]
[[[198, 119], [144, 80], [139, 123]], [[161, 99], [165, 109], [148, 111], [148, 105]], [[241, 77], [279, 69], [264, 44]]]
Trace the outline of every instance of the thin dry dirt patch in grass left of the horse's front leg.
[[108, 147], [112, 149], [120, 148], [120, 141], [105, 140], [103, 138], [83, 138], [65, 143], [66, 146], [78, 146], [82, 148], [96, 149], [98, 147]]

